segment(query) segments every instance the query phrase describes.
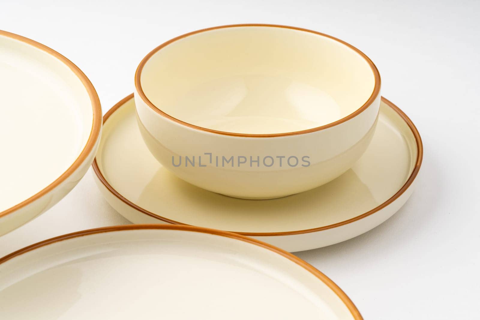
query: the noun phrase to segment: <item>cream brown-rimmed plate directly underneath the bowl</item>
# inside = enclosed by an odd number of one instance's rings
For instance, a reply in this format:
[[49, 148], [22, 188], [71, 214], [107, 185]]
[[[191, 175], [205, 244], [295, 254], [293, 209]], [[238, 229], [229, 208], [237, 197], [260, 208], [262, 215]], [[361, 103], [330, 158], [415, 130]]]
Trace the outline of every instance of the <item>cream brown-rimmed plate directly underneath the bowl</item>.
[[421, 159], [415, 126], [383, 98], [372, 143], [341, 177], [279, 199], [230, 198], [194, 187], [156, 161], [142, 140], [130, 95], [104, 116], [93, 166], [107, 201], [134, 223], [228, 230], [300, 251], [356, 237], [392, 216], [410, 196]]

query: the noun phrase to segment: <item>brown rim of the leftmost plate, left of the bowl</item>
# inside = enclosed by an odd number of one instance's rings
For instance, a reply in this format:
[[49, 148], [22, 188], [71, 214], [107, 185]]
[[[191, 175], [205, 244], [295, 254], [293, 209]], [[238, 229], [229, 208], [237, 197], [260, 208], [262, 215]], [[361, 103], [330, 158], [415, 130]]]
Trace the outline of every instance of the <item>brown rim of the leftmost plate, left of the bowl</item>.
[[90, 80], [87, 78], [87, 76], [78, 68], [75, 64], [73, 64], [72, 61], [69, 59], [65, 58], [62, 56], [60, 53], [57, 51], [53, 50], [52, 48], [49, 48], [45, 45], [42, 45], [39, 42], [36, 42], [32, 39], [26, 38], [24, 36], [19, 36], [16, 34], [13, 34], [8, 31], [3, 31], [0, 30], [0, 36], [6, 36], [9, 38], [12, 38], [14, 40], [21, 41], [23, 43], [26, 43], [30, 46], [36, 47], [38, 49], [41, 49], [48, 53], [49, 55], [59, 59], [61, 62], [63, 62], [67, 67], [70, 68], [70, 70], [73, 71], [73, 73], [80, 79], [80, 81], [83, 83], [88, 96], [90, 97], [90, 101], [92, 103], [92, 110], [93, 110], [93, 121], [92, 121], [92, 129], [90, 130], [90, 135], [88, 137], [88, 140], [84, 146], [84, 149], [82, 152], [78, 155], [77, 159], [72, 163], [72, 165], [65, 171], [63, 172], [60, 177], [55, 179], [52, 183], [50, 183], [47, 187], [44, 189], [38, 191], [36, 194], [31, 196], [30, 198], [14, 205], [13, 207], [10, 207], [2, 212], [0, 212], [0, 218], [3, 216], [6, 216], [7, 214], [13, 213], [24, 206], [36, 201], [40, 197], [44, 196], [47, 194], [49, 191], [53, 190], [55, 187], [60, 185], [63, 181], [65, 181], [72, 173], [84, 162], [84, 160], [88, 157], [90, 152], [93, 150], [95, 147], [95, 144], [98, 140], [98, 137], [100, 136], [100, 130], [102, 127], [102, 109], [100, 107], [100, 99], [98, 98], [98, 95], [95, 91], [95, 88], [93, 87], [92, 83]]

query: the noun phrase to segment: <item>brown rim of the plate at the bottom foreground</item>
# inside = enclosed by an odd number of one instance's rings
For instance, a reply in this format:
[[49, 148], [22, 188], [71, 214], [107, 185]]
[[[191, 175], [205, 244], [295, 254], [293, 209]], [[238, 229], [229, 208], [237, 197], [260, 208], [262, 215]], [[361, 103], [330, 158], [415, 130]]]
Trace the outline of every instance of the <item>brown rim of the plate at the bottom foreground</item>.
[[94, 235], [94, 234], [100, 234], [100, 233], [106, 233], [106, 232], [116, 232], [116, 231], [128, 231], [128, 230], [155, 230], [155, 229], [160, 229], [160, 230], [178, 230], [178, 231], [190, 231], [190, 232], [199, 232], [199, 233], [205, 233], [205, 234], [210, 234], [210, 235], [215, 235], [215, 236], [221, 236], [221, 237], [228, 237], [232, 238], [235, 240], [240, 240], [244, 241], [259, 247], [262, 247], [264, 249], [268, 249], [270, 251], [273, 251], [284, 258], [287, 258], [288, 260], [296, 263], [303, 269], [307, 270], [309, 273], [312, 273], [314, 276], [316, 276], [320, 281], [322, 281], [324, 284], [326, 284], [339, 298], [342, 300], [342, 302], [345, 304], [345, 306], [348, 308], [350, 313], [352, 314], [353, 318], [355, 320], [362, 320], [362, 316], [360, 315], [360, 311], [355, 307], [353, 304], [352, 300], [347, 296], [347, 294], [340, 289], [340, 287], [333, 282], [330, 278], [328, 278], [324, 273], [313, 267], [310, 263], [298, 258], [297, 256], [294, 256], [293, 254], [277, 248], [275, 246], [272, 246], [268, 243], [265, 243], [263, 241], [253, 239], [250, 237], [245, 237], [236, 233], [228, 232], [228, 231], [222, 231], [222, 230], [216, 230], [216, 229], [209, 229], [209, 228], [204, 228], [204, 227], [198, 227], [198, 226], [192, 226], [192, 225], [114, 225], [114, 226], [107, 226], [107, 227], [101, 227], [101, 228], [95, 228], [95, 229], [88, 229], [88, 230], [83, 230], [83, 231], [77, 231], [73, 233], [69, 233], [66, 235], [62, 235], [59, 237], [54, 237], [50, 238], [44, 241], [37, 242], [36, 244], [30, 245], [28, 247], [25, 247], [23, 249], [17, 250], [15, 252], [10, 253], [9, 255], [6, 255], [3, 258], [0, 258], [0, 265], [2, 263], [5, 263], [6, 261], [9, 261], [15, 257], [18, 257], [26, 252], [56, 243], [60, 242], [63, 240], [68, 240], [76, 237], [83, 237], [83, 236], [89, 236], [89, 235]]

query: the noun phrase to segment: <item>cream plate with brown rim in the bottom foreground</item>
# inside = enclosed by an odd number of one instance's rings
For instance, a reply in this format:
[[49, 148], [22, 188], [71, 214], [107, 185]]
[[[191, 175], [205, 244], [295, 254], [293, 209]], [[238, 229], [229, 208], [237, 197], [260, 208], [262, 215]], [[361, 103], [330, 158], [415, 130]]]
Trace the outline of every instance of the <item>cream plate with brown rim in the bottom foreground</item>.
[[311, 265], [257, 240], [123, 225], [0, 259], [0, 319], [361, 319]]

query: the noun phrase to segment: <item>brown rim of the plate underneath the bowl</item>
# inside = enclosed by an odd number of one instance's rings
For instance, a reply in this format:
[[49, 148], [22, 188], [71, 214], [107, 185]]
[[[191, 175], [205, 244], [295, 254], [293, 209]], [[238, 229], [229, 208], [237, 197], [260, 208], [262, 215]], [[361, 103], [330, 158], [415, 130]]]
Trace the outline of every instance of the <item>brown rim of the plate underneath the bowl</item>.
[[[105, 116], [103, 117], [103, 122], [104, 124], [106, 123], [106, 121], [108, 120], [108, 118], [118, 109], [120, 108], [121, 106], [123, 106], [127, 101], [129, 101], [130, 99], [133, 98], [133, 94], [131, 95], [128, 95], [126, 96], [125, 98], [121, 99], [119, 103], [117, 103], [115, 106], [113, 106], [110, 110], [108, 110], [108, 112], [105, 114]], [[402, 111], [400, 110], [400, 108], [396, 107], [396, 105], [394, 105], [392, 102], [390, 102], [389, 100], [387, 100], [386, 98], [382, 97], [382, 101], [384, 103], [386, 103], [389, 107], [391, 107], [394, 111], [396, 111], [396, 113], [407, 123], [408, 127], [410, 128], [410, 130], [412, 131], [414, 137], [415, 137], [415, 141], [417, 143], [417, 160], [415, 162], [415, 166], [413, 168], [413, 171], [412, 173], [410, 174], [410, 177], [407, 179], [407, 181], [405, 182], [405, 184], [402, 186], [402, 188], [400, 188], [400, 190], [398, 190], [392, 197], [390, 197], [390, 199], [388, 199], [387, 201], [383, 202], [382, 204], [378, 205], [377, 207], [373, 208], [372, 210], [370, 211], [367, 211], [366, 213], [362, 213], [356, 217], [353, 217], [351, 219], [348, 219], [348, 220], [345, 220], [345, 221], [341, 221], [341, 222], [338, 222], [338, 223], [335, 223], [335, 224], [332, 224], [332, 225], [324, 225], [324, 226], [321, 226], [321, 227], [316, 227], [316, 228], [311, 228], [311, 229], [304, 229], [304, 230], [296, 230], [296, 231], [284, 231], [284, 232], [236, 232], [236, 231], [228, 231], [228, 232], [234, 232], [234, 233], [237, 233], [237, 234], [240, 234], [240, 235], [243, 235], [243, 236], [249, 236], [249, 237], [270, 237], [270, 236], [289, 236], [289, 235], [298, 235], [298, 234], [303, 234], [303, 233], [310, 233], [310, 232], [317, 232], [317, 231], [322, 231], [322, 230], [327, 230], [327, 229], [332, 229], [332, 228], [336, 228], [336, 227], [339, 227], [341, 225], [347, 225], [349, 223], [352, 223], [352, 222], [355, 222], [357, 220], [360, 220], [360, 219], [363, 219], [373, 213], [376, 213], [377, 211], [383, 209], [384, 207], [388, 206], [390, 203], [392, 203], [393, 201], [395, 201], [396, 199], [398, 199], [407, 189], [408, 187], [413, 183], [413, 181], [415, 180], [415, 178], [417, 177], [418, 173], [419, 173], [419, 170], [420, 170], [420, 166], [421, 166], [421, 162], [422, 162], [422, 159], [423, 159], [423, 144], [421, 142], [421, 138], [420, 138], [420, 133], [418, 132], [417, 128], [415, 127], [415, 125], [413, 124], [413, 122], [407, 117], [407, 115]], [[132, 207], [133, 209], [141, 212], [141, 213], [144, 213], [146, 215], [149, 215], [153, 218], [156, 218], [160, 221], [163, 221], [163, 222], [167, 222], [169, 224], [173, 224], [173, 225], [187, 225], [187, 224], [184, 224], [184, 223], [181, 223], [181, 222], [178, 222], [178, 221], [175, 221], [175, 220], [171, 220], [171, 219], [168, 219], [166, 217], [162, 217], [160, 215], [157, 215], [155, 213], [152, 213], [148, 210], [145, 210], [144, 208], [136, 205], [135, 203], [133, 203], [132, 201], [126, 199], [125, 197], [123, 197], [117, 190], [115, 190], [107, 181], [107, 179], [103, 176], [103, 174], [100, 172], [100, 169], [98, 167], [98, 164], [96, 162], [96, 157], [92, 163], [92, 167], [93, 167], [93, 170], [97, 176], [97, 178], [100, 180], [100, 182], [105, 186], [105, 188], [108, 189], [108, 191], [110, 191], [115, 197], [117, 197], [118, 199], [120, 199], [120, 201], [124, 202], [125, 204], [127, 204], [128, 206]]]

